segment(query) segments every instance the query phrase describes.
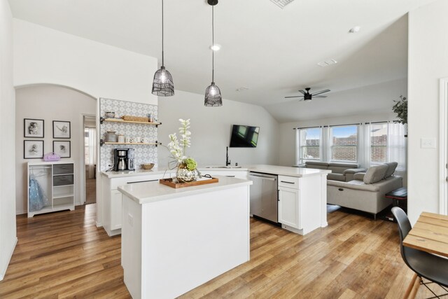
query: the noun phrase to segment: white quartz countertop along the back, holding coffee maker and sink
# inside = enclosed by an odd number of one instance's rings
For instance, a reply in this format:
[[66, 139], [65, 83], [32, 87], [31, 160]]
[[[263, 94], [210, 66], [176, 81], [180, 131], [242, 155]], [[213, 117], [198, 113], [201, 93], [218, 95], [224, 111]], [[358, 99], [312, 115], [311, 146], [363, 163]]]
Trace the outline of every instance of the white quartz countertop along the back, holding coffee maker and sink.
[[[311, 169], [311, 168], [300, 168], [300, 167], [288, 167], [288, 166], [276, 166], [276, 165], [248, 165], [244, 167], [199, 167], [199, 171], [202, 174], [207, 174], [207, 172], [261, 172], [264, 174], [278, 174], [282, 176], [311, 176], [311, 175], [322, 175], [329, 174], [331, 170], [325, 169]], [[146, 176], [151, 174], [174, 174], [175, 169], [163, 169], [154, 168], [150, 170], [137, 169], [137, 170], [127, 170], [124, 172], [102, 172], [103, 176], [109, 179], [125, 177], [125, 176]]]

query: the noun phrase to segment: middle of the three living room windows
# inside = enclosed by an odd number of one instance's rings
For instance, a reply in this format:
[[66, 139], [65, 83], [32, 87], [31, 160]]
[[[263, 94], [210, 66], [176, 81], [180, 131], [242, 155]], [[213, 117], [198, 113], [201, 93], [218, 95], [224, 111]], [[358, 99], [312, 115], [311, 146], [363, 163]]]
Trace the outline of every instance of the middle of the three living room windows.
[[331, 160], [358, 161], [358, 126], [330, 127]]

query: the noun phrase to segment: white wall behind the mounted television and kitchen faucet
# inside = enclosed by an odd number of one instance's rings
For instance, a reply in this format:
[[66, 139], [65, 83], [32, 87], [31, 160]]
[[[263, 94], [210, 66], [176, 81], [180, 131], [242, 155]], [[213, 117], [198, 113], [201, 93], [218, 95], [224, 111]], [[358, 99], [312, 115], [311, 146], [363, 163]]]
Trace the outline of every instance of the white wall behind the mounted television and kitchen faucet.
[[[187, 155], [199, 165], [225, 165], [225, 147], [230, 144], [232, 125], [260, 127], [256, 148], [229, 148], [232, 165], [278, 163], [279, 125], [261, 107], [223, 99], [221, 107], [204, 106], [204, 95], [176, 90], [174, 97], [159, 98], [158, 140], [168, 144], [168, 135], [179, 132], [179, 118], [191, 121], [191, 148]], [[178, 133], [179, 135], [179, 133]], [[159, 167], [167, 167], [169, 151], [159, 146]]]

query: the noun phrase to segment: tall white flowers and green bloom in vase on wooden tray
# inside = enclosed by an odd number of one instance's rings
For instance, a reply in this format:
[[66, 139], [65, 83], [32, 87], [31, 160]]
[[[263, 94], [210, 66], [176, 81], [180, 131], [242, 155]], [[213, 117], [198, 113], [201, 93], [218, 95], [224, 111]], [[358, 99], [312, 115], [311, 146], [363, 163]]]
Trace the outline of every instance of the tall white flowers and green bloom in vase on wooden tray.
[[179, 127], [179, 134], [181, 140], [177, 139], [176, 133], [169, 134], [169, 144], [168, 149], [171, 153], [173, 162], [176, 163], [176, 180], [181, 183], [188, 183], [194, 181], [197, 176], [201, 176], [200, 172], [197, 170], [197, 162], [195, 159], [186, 156], [186, 150], [190, 147], [190, 136], [191, 132], [188, 130], [190, 128], [190, 120], [179, 119], [181, 122], [181, 127]]

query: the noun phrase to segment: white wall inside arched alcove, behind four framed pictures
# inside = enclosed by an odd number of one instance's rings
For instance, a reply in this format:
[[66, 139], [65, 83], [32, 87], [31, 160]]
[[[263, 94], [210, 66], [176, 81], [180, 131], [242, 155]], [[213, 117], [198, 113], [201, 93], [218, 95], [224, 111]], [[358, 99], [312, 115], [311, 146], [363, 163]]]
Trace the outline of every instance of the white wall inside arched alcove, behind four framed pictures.
[[[23, 133], [23, 119], [36, 118], [43, 119], [44, 141], [43, 153], [53, 151], [53, 141], [71, 141], [71, 158], [62, 160], [73, 160], [75, 162], [75, 204], [81, 204], [81, 179], [83, 176], [83, 115], [94, 115], [97, 101], [80, 92], [69, 88], [62, 88], [55, 85], [36, 85], [27, 88], [20, 88], [15, 91], [15, 197], [16, 212], [24, 214], [27, 212], [27, 162], [42, 161], [42, 159], [24, 159], [23, 141], [27, 138]], [[71, 122], [70, 139], [53, 139], [52, 121], [63, 120]], [[31, 139], [29, 139], [31, 140]]]

